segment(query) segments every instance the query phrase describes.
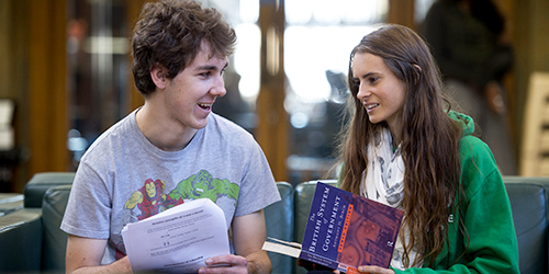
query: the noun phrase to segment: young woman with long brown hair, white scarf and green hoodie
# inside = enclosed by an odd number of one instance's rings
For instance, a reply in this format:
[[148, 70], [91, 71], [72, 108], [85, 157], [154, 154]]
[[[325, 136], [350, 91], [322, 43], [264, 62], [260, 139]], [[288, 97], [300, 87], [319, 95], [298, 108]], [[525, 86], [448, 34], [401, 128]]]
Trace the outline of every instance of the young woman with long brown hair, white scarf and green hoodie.
[[383, 25], [352, 49], [339, 186], [404, 210], [390, 269], [518, 273], [505, 186], [473, 121], [450, 110], [425, 42]]

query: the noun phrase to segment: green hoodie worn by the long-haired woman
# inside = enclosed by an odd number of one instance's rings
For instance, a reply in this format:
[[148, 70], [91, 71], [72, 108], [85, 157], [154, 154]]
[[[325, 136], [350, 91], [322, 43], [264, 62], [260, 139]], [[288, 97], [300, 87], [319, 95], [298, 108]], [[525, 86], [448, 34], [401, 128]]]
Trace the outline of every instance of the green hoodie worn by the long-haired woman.
[[[461, 161], [462, 215], [453, 212], [448, 222], [449, 244], [438, 255], [435, 265], [427, 269], [394, 270], [399, 273], [519, 273], [518, 247], [511, 204], [492, 151], [472, 136], [471, 117], [450, 112], [461, 125], [459, 142]], [[469, 238], [459, 231], [462, 221]], [[449, 247], [449, 248], [448, 248]], [[463, 250], [467, 251], [463, 253]]]

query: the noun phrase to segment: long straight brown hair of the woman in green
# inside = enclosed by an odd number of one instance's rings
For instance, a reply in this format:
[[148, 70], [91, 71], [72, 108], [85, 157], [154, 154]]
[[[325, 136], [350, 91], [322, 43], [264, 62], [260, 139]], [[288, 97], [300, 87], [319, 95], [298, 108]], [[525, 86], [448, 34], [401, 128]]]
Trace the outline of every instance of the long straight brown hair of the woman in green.
[[[370, 123], [357, 99], [358, 85], [354, 84], [351, 70], [357, 53], [381, 57], [405, 83], [401, 133], [405, 164], [402, 226], [407, 227], [410, 241], [403, 242], [403, 262], [406, 266], [421, 261], [433, 265], [448, 239], [448, 229], [444, 227], [450, 210], [459, 203], [455, 199], [461, 192], [458, 145], [462, 129], [447, 115], [450, 104], [442, 96], [440, 72], [425, 42], [405, 26], [383, 25], [366, 35], [350, 56], [350, 119], [341, 132], [339, 147], [341, 189], [360, 194], [363, 172], [368, 172], [368, 142], [374, 133], [388, 126], [384, 122]], [[421, 255], [411, 262], [408, 254], [416, 247]]]

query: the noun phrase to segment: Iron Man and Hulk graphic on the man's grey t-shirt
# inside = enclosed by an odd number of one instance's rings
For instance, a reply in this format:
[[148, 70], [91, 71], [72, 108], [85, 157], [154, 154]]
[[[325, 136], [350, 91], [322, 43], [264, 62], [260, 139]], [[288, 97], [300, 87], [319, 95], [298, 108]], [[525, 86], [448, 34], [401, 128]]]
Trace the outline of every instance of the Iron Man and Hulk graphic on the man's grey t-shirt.
[[197, 198], [210, 198], [216, 203], [220, 197], [236, 202], [240, 187], [226, 179], [214, 179], [205, 170], [182, 180], [168, 194], [166, 183], [159, 179], [147, 179], [142, 187], [132, 193], [124, 204], [111, 227], [112, 238], [110, 244], [115, 246], [115, 258], [125, 255], [124, 242], [122, 240], [122, 228], [128, 224], [145, 219], [161, 213], [176, 205]]

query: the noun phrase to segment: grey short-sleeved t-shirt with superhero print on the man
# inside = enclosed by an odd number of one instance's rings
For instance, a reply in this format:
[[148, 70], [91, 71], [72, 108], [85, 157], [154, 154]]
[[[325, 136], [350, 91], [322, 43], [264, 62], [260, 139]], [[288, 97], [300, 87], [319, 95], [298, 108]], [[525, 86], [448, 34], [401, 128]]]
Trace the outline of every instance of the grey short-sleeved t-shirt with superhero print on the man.
[[216, 115], [180, 151], [152, 145], [135, 114], [103, 133], [78, 167], [61, 229], [108, 239], [103, 264], [125, 255], [122, 228], [166, 208], [209, 197], [234, 217], [280, 201], [267, 159], [254, 137]]

